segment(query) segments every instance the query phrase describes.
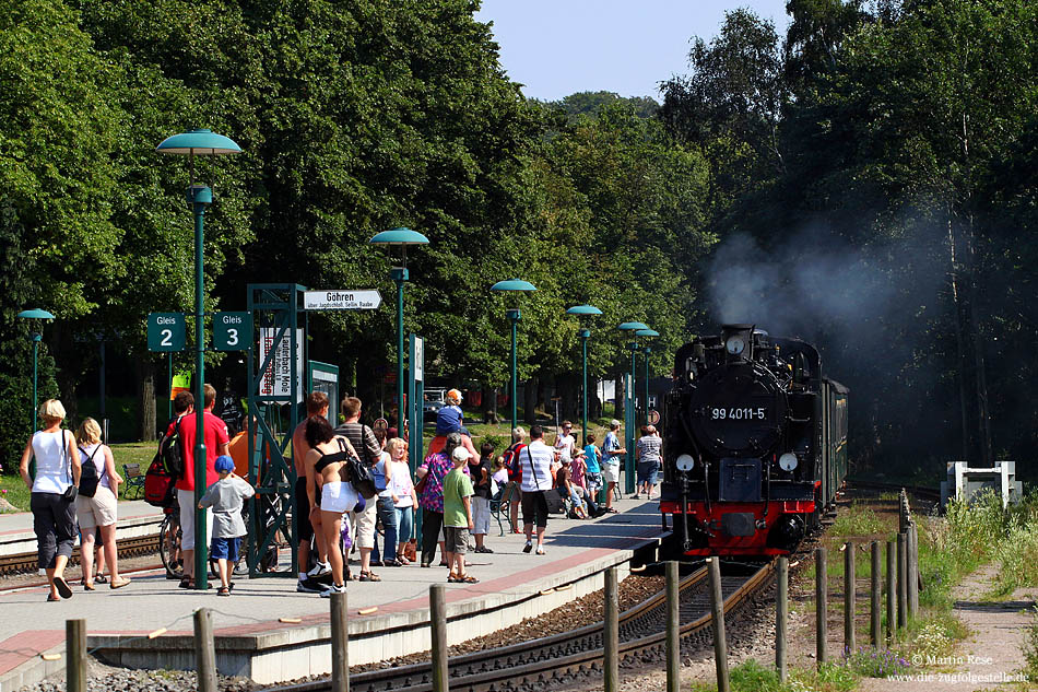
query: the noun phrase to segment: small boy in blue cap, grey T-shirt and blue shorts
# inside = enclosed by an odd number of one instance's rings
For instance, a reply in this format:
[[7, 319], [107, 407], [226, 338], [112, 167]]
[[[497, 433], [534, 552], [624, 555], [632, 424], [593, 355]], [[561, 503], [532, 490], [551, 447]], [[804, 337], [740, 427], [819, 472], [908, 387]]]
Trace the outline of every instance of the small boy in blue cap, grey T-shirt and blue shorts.
[[238, 548], [241, 537], [248, 531], [241, 519], [241, 506], [245, 500], [256, 494], [256, 490], [243, 478], [234, 474], [234, 459], [227, 455], [216, 457], [216, 472], [220, 480], [209, 486], [199, 509], [213, 508], [213, 543], [210, 554], [216, 559], [220, 572], [217, 596], [231, 596], [231, 570], [238, 562]]

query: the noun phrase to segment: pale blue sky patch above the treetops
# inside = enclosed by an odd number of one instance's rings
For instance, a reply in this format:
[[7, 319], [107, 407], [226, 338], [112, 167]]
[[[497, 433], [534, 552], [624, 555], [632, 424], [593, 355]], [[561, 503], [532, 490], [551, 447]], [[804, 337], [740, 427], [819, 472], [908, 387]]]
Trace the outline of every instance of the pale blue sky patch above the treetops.
[[689, 39], [709, 40], [724, 12], [750, 8], [785, 34], [786, 0], [483, 0], [502, 66], [532, 98], [580, 91], [652, 96], [657, 83], [685, 74]]

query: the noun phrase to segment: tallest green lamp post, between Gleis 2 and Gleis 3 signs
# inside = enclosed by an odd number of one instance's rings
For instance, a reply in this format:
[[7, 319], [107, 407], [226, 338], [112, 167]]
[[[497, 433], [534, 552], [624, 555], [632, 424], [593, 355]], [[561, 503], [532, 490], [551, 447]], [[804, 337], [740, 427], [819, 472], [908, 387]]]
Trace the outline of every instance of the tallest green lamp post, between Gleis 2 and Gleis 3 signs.
[[[219, 156], [241, 153], [234, 140], [212, 130], [191, 130], [164, 139], [155, 148], [161, 154], [187, 154], [190, 171], [188, 203], [194, 211], [194, 505], [205, 493], [205, 275], [202, 253], [205, 238], [205, 207], [213, 201], [213, 191], [194, 183], [194, 156]], [[201, 462], [198, 461], [201, 459]], [[205, 543], [205, 511], [194, 514], [194, 585], [209, 588], [209, 546]]]

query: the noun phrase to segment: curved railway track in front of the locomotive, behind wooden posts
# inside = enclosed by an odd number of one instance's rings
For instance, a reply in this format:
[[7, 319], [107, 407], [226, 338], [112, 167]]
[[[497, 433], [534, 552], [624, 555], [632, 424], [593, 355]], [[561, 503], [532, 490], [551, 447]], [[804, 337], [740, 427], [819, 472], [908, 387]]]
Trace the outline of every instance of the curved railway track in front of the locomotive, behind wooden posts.
[[[724, 611], [731, 613], [750, 602], [771, 575], [769, 563], [750, 577], [721, 578]], [[681, 628], [684, 643], [707, 645], [710, 631], [710, 597], [707, 570], [699, 568], [681, 582]], [[662, 661], [665, 637], [663, 591], [627, 610], [620, 618], [620, 665]], [[456, 656], [448, 661], [450, 689], [457, 692], [534, 692], [557, 689], [588, 675], [601, 675], [603, 623], [573, 632], [512, 644], [503, 648]], [[432, 691], [429, 662], [387, 668], [350, 676], [350, 689], [358, 692]], [[268, 692], [322, 692], [328, 679], [269, 688]]]

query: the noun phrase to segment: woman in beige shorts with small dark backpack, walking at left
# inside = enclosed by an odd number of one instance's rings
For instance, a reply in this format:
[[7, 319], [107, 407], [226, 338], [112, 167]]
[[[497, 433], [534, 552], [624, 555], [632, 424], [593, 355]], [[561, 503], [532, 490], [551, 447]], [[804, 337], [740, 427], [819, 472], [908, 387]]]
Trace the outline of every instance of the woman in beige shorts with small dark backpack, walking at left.
[[122, 588], [130, 583], [119, 576], [119, 553], [116, 550], [116, 520], [119, 504], [119, 483], [122, 477], [116, 472], [116, 462], [108, 445], [101, 444], [101, 425], [92, 418], [83, 419], [75, 431], [79, 443], [80, 492], [75, 499], [75, 516], [80, 521], [83, 543], [80, 558], [83, 562], [83, 588], [94, 590], [94, 542], [101, 532], [101, 543], [108, 565], [108, 588]]

